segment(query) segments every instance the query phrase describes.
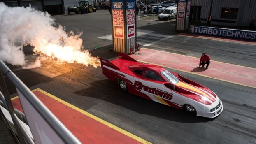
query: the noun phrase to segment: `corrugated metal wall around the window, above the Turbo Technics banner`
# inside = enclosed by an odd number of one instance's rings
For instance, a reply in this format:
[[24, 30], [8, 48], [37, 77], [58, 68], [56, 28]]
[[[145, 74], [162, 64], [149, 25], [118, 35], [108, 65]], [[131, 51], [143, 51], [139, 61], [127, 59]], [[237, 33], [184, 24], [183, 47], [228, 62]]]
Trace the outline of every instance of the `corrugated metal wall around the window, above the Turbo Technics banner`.
[[[191, 6], [201, 6], [201, 19], [206, 19], [210, 12], [211, 0], [191, 0]], [[221, 8], [238, 8], [237, 19], [221, 18]], [[212, 19], [236, 21], [235, 23], [216, 22], [211, 24], [225, 26], [249, 26], [252, 17], [256, 17], [256, 0], [213, 0]], [[206, 21], [201, 21], [206, 23]]]

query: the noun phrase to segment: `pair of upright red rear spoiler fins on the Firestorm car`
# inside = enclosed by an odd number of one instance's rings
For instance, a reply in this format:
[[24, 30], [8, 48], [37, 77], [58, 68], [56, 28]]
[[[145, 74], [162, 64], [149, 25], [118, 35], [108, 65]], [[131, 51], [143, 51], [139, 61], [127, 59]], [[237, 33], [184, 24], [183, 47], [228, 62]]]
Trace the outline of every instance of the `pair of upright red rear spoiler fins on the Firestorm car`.
[[[121, 59], [121, 60], [128, 60], [128, 61], [133, 61], [133, 62], [137, 62], [137, 60], [131, 58], [130, 56], [128, 56], [127, 54], [125, 53], [118, 53], [118, 58]], [[120, 70], [119, 67], [117, 67], [116, 65], [114, 65], [113, 63], [111, 63], [109, 60], [105, 60], [103, 58], [100, 58], [100, 65], [101, 67], [103, 65], [106, 65], [108, 67], [111, 67], [113, 69], [116, 69], [116, 70]]]

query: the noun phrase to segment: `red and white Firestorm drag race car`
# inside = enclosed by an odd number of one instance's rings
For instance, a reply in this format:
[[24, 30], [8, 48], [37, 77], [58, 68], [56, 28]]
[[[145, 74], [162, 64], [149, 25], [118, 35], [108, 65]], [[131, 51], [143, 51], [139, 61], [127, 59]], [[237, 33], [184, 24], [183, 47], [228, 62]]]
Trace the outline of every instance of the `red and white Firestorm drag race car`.
[[184, 108], [197, 116], [214, 118], [223, 111], [221, 100], [209, 88], [163, 67], [137, 62], [123, 53], [116, 60], [100, 59], [100, 62], [106, 77], [134, 95]]

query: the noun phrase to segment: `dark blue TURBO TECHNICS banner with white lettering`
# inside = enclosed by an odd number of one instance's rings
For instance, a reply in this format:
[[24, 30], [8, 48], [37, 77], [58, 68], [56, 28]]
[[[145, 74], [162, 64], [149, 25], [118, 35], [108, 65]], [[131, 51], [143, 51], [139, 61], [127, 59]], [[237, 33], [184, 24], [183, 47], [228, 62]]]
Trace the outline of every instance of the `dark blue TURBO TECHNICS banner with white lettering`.
[[192, 33], [214, 35], [220, 37], [232, 37], [238, 39], [256, 40], [256, 32], [249, 30], [234, 30], [226, 28], [214, 28], [205, 26], [191, 26]]

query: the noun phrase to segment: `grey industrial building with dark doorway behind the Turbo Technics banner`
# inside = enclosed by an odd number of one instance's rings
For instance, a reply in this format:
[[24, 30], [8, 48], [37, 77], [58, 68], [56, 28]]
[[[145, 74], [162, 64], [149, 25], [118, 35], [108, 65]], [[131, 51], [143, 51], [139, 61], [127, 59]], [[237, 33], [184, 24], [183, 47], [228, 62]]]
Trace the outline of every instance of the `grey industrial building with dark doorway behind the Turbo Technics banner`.
[[211, 24], [249, 26], [251, 18], [256, 17], [256, 0], [191, 0], [190, 21], [207, 23], [210, 13]]

